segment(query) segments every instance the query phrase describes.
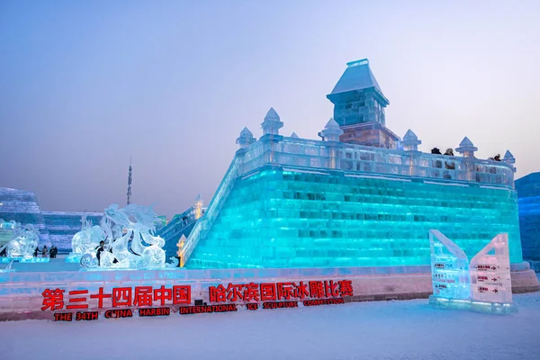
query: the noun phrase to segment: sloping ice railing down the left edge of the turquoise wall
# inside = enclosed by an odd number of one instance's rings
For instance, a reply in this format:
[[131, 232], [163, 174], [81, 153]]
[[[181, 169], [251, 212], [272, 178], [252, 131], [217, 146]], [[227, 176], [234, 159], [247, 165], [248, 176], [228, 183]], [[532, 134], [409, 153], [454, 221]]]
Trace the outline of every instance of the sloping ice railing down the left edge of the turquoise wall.
[[216, 193], [212, 197], [206, 212], [204, 212], [201, 219], [197, 221], [193, 227], [193, 230], [190, 232], [189, 237], [185, 240], [185, 244], [180, 250], [180, 266], [183, 267], [185, 265], [201, 237], [204, 235], [206, 230], [211, 228], [213, 221], [218, 217], [220, 208], [223, 206], [223, 202], [225, 202], [229, 196], [229, 193], [234, 187], [235, 181], [238, 177], [239, 163], [240, 160], [238, 157], [234, 157], [229, 169], [227, 170], [227, 173], [223, 177], [223, 180], [221, 180], [218, 190], [216, 190]]

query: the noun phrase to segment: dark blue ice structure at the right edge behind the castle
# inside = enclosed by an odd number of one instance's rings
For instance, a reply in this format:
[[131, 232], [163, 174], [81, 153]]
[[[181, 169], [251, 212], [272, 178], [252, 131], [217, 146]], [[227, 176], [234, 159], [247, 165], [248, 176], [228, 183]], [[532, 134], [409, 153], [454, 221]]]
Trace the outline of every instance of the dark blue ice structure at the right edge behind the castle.
[[540, 271], [540, 173], [516, 180], [523, 258]]

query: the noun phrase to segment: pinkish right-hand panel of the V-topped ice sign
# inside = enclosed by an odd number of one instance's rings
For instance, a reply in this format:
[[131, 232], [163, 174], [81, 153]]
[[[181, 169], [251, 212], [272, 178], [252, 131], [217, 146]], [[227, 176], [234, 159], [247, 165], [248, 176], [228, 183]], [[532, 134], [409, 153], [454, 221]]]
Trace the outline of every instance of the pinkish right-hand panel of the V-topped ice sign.
[[499, 234], [471, 260], [471, 291], [475, 301], [512, 302], [509, 237]]

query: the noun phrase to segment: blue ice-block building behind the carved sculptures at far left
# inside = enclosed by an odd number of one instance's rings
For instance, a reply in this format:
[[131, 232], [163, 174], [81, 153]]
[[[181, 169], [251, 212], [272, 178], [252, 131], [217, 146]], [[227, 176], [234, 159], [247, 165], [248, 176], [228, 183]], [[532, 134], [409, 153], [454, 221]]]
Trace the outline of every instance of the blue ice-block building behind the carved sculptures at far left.
[[38, 246], [54, 245], [59, 252], [71, 250], [71, 238], [81, 229], [81, 218], [99, 223], [99, 212], [41, 211], [36, 194], [31, 191], [0, 187], [0, 219], [31, 224], [40, 231]]

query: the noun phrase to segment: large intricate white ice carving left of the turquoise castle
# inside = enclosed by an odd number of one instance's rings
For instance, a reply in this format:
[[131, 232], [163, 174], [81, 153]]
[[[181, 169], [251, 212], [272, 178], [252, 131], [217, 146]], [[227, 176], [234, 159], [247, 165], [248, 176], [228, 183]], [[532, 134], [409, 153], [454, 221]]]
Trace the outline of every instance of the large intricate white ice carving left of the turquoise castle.
[[[81, 266], [99, 269], [143, 269], [175, 267], [173, 258], [166, 264], [165, 240], [154, 236], [157, 215], [149, 207], [130, 204], [120, 208], [110, 205], [99, 226], [84, 221], [81, 231], [73, 239], [75, 251], [84, 251]], [[105, 242], [105, 251], [98, 261], [97, 247]]]

